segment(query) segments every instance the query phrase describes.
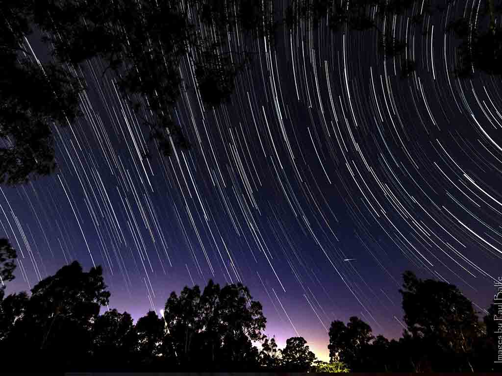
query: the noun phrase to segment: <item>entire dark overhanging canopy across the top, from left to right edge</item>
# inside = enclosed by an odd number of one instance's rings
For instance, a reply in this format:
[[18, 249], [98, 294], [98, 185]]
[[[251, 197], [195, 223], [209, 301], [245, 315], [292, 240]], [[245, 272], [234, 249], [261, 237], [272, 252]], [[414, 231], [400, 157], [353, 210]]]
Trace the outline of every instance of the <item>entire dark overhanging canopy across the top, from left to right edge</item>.
[[[398, 59], [408, 77], [416, 63], [406, 54], [390, 23], [418, 8], [412, 22], [443, 12], [417, 0], [293, 0], [276, 15], [262, 0], [6, 0], [0, 4], [0, 183], [17, 184], [51, 174], [55, 167], [53, 127], [80, 114], [85, 62], [98, 59], [122, 98], [131, 103], [150, 139], [166, 156], [189, 148], [183, 124], [172, 116], [180, 98], [180, 64], [188, 59], [198, 93], [208, 106], [229, 100], [235, 79], [252, 60], [255, 41], [274, 41], [279, 25], [314, 27], [326, 22], [334, 32], [375, 31], [382, 56]], [[459, 41], [455, 72], [502, 73], [502, 39], [495, 20], [502, 8], [481, 2], [479, 13], [449, 25]], [[480, 3], [480, 4], [481, 4]], [[371, 9], [373, 11], [369, 12]], [[166, 20], [169, 20], [166, 22]], [[27, 37], [43, 33], [54, 57], [40, 62]], [[240, 43], [235, 40], [244, 38]], [[27, 90], [30, 88], [30, 90]], [[147, 156], [150, 154], [147, 153]]]

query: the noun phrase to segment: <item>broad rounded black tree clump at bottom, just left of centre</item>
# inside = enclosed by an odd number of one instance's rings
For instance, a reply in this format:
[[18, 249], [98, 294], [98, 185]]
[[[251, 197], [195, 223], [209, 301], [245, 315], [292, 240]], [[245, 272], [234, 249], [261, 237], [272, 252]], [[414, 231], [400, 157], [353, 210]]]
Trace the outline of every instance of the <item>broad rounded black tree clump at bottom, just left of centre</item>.
[[241, 284], [220, 288], [210, 280], [202, 295], [198, 286], [185, 287], [179, 297], [173, 292], [164, 318], [181, 366], [195, 359], [212, 369], [258, 363], [253, 341], [261, 338], [266, 319], [261, 304]]

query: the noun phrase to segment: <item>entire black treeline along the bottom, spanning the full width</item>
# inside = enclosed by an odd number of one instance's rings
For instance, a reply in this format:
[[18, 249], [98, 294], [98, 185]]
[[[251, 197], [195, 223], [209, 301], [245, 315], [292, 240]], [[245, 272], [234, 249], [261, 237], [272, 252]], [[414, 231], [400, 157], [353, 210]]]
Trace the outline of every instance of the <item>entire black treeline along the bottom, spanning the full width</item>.
[[[16, 252], [0, 240], [2, 284], [14, 278]], [[172, 292], [159, 316], [108, 309], [100, 267], [62, 267], [31, 290], [5, 296], [0, 288], [0, 353], [3, 370], [163, 371], [490, 371], [497, 354], [495, 312], [480, 321], [453, 285], [403, 275], [404, 322], [399, 340], [373, 336], [357, 317], [329, 329], [331, 361], [318, 361], [302, 337], [283, 349], [263, 334], [262, 305], [246, 287]], [[260, 348], [255, 344], [260, 343]]]

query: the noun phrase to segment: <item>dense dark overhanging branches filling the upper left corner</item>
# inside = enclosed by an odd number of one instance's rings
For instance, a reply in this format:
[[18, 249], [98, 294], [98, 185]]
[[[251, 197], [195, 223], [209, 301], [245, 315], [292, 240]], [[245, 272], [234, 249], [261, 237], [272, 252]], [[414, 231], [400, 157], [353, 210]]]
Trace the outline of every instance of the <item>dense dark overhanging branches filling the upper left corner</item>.
[[[51, 126], [79, 115], [90, 59], [102, 61], [123, 99], [164, 155], [189, 140], [171, 116], [180, 97], [180, 64], [187, 57], [202, 100], [218, 106], [254, 55], [249, 38], [273, 33], [273, 8], [259, 0], [7, 0], [0, 4], [0, 182], [17, 184], [55, 168]], [[168, 20], [168, 21], [166, 21]], [[229, 47], [246, 33], [238, 49]], [[25, 37], [44, 33], [54, 62], [38, 64]], [[63, 69], [67, 67], [68, 69]], [[27, 88], [30, 90], [27, 90]]]

